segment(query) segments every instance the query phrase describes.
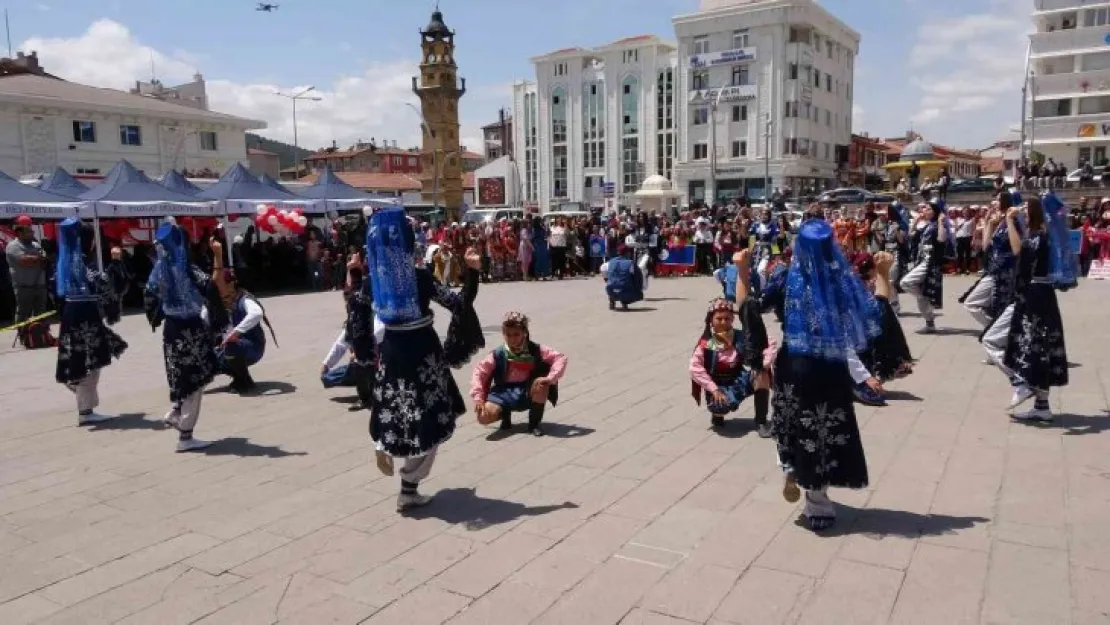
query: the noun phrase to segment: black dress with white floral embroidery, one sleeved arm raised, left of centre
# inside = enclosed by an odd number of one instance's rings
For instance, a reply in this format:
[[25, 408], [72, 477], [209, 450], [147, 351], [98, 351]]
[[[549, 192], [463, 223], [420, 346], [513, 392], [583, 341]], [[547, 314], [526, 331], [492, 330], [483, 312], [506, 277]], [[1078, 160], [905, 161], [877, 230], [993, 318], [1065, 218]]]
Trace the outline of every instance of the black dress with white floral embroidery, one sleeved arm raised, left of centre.
[[[455, 433], [455, 420], [466, 414], [463, 394], [451, 374], [485, 346], [474, 312], [478, 272], [467, 269], [460, 293], [447, 289], [426, 269], [416, 270], [424, 320], [386, 327], [377, 345], [370, 435], [394, 457], [427, 453]], [[451, 312], [443, 344], [432, 324], [431, 302]]]

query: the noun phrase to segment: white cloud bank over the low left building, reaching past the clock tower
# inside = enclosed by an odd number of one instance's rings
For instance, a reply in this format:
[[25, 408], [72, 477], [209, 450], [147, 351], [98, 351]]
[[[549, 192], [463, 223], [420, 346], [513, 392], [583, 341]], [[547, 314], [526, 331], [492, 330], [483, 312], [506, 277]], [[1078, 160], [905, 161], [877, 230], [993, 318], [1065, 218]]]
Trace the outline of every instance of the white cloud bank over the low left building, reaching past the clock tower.
[[[199, 67], [199, 57], [184, 50], [162, 52], [139, 41], [122, 23], [101, 19], [75, 38], [41, 38], [26, 41], [23, 50], [37, 50], [50, 73], [97, 87], [129, 89], [137, 80], [149, 80], [153, 61], [158, 78], [165, 84], [188, 82]], [[204, 73], [202, 71], [202, 73]], [[330, 145], [334, 140], [346, 147], [371, 138], [396, 141], [401, 147], [420, 144], [420, 118], [404, 102], [418, 103], [412, 92], [412, 77], [417, 75], [415, 60], [371, 63], [349, 71], [330, 84], [316, 83], [319, 102], [297, 102], [297, 139], [302, 148]], [[265, 121], [262, 134], [293, 142], [291, 102], [275, 94], [297, 85], [270, 82], [241, 82], [222, 79], [218, 70], [205, 75], [210, 108], [214, 111]], [[301, 85], [300, 89], [303, 89]], [[511, 91], [505, 85], [468, 85], [463, 109], [477, 107], [483, 117], [468, 119], [463, 113], [460, 143], [483, 151], [481, 127], [488, 123], [497, 108], [507, 103]]]

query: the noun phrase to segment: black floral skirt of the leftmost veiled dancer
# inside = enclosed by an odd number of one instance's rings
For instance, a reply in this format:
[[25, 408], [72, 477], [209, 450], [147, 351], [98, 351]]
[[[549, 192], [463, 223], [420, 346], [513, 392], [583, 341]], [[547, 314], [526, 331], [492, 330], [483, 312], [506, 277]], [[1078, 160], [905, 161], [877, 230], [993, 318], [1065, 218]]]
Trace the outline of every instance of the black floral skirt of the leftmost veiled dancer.
[[104, 325], [99, 302], [67, 302], [62, 306], [54, 380], [62, 384], [80, 382], [112, 364], [112, 359], [123, 355], [127, 349], [127, 342]]

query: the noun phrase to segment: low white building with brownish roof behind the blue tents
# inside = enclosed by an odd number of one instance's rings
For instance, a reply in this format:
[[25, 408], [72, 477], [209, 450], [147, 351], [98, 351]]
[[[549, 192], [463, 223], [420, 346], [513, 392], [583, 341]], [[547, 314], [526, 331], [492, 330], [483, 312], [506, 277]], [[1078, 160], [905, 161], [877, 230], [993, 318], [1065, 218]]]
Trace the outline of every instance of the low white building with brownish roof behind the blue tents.
[[188, 97], [142, 95], [51, 75], [34, 52], [0, 59], [0, 171], [99, 175], [127, 159], [158, 178], [246, 164], [246, 131], [266, 124], [209, 111], [203, 84]]

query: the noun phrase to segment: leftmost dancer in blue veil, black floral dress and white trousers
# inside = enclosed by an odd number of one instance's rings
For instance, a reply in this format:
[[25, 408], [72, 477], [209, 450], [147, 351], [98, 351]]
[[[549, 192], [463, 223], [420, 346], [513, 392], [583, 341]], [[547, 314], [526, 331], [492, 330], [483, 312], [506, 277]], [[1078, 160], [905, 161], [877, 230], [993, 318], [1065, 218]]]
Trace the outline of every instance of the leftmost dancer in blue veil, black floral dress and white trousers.
[[108, 326], [120, 321], [121, 293], [107, 275], [87, 264], [85, 254], [91, 243], [92, 232], [82, 228], [77, 218], [67, 219], [58, 229], [54, 286], [61, 309], [61, 327], [54, 380], [77, 396], [78, 425], [111, 419], [95, 412], [100, 404], [97, 392], [100, 371], [128, 349], [123, 339]]

